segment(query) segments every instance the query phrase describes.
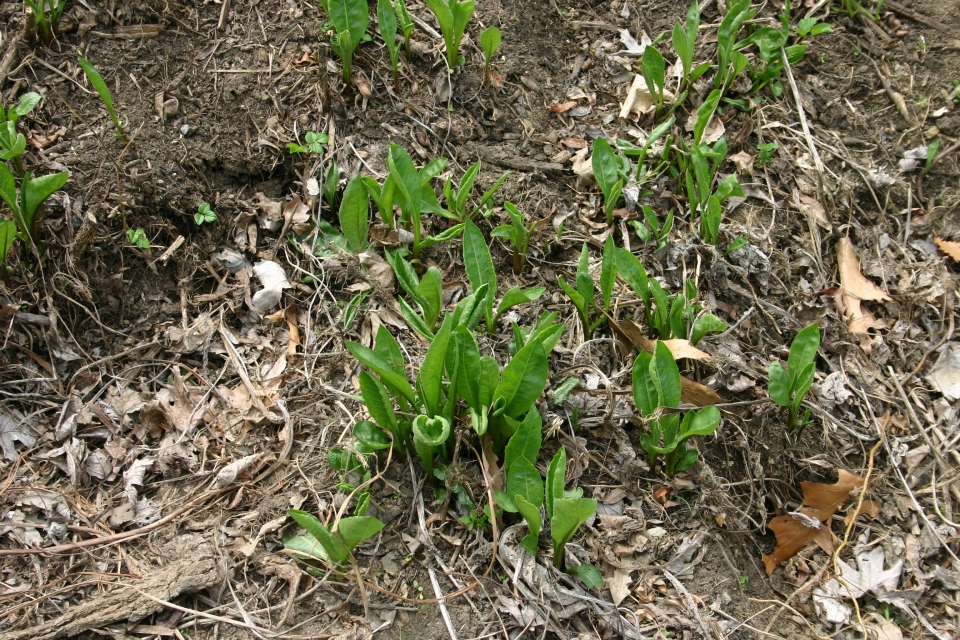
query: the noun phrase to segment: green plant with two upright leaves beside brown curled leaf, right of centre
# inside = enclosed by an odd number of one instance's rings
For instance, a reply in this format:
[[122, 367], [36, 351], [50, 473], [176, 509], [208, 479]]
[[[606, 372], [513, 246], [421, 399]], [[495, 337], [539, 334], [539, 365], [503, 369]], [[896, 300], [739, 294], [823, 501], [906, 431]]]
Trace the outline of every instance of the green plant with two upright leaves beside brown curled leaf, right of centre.
[[679, 413], [667, 412], [680, 407], [680, 396], [680, 370], [670, 349], [658, 340], [653, 355], [643, 351], [633, 363], [633, 398], [650, 426], [650, 433], [640, 436], [650, 468], [663, 455], [664, 470], [671, 478], [697, 461], [697, 450], [688, 449], [686, 441], [710, 435], [720, 425], [720, 411], [713, 406], [688, 411], [682, 422]]

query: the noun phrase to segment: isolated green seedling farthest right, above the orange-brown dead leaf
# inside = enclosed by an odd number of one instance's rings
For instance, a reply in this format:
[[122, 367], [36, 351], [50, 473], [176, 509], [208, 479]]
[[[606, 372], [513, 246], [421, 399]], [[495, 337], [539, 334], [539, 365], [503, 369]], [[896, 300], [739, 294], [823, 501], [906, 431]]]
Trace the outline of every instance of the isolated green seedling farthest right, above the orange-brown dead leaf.
[[798, 434], [810, 424], [810, 411], [800, 418], [803, 396], [813, 384], [816, 373], [817, 350], [820, 348], [820, 327], [812, 324], [793, 339], [787, 369], [784, 371], [780, 361], [770, 363], [770, 398], [789, 412], [787, 431]]

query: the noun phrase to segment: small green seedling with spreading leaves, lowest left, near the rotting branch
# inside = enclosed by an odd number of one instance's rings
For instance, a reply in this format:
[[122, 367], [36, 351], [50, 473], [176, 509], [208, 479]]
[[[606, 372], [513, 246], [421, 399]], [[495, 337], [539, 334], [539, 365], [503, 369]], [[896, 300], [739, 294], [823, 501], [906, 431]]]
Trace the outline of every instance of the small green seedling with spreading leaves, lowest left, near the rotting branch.
[[[369, 495], [365, 504], [369, 506]], [[358, 509], [366, 510], [365, 507]], [[383, 523], [373, 516], [358, 515], [343, 518], [335, 531], [323, 526], [313, 514], [288, 509], [287, 514], [307, 530], [307, 535], [284, 540], [283, 546], [303, 559], [321, 560], [336, 569], [344, 567], [358, 544], [369, 540], [383, 529]]]

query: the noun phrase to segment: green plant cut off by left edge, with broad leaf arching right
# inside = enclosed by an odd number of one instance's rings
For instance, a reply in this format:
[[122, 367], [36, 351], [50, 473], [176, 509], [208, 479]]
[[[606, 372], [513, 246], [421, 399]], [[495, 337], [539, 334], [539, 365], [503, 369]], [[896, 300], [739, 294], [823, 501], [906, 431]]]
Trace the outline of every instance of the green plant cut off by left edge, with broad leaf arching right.
[[[43, 255], [46, 244], [40, 239], [43, 208], [47, 198], [52, 196], [70, 177], [69, 172], [54, 173], [39, 178], [32, 178], [27, 171], [23, 175], [20, 187], [7, 165], [0, 163], [0, 197], [3, 198], [13, 213], [13, 222], [16, 224], [16, 237], [26, 247], [36, 247], [37, 254]], [[3, 228], [3, 238], [0, 239], [0, 248], [5, 248], [3, 260], [6, 261], [13, 240], [9, 224]]]

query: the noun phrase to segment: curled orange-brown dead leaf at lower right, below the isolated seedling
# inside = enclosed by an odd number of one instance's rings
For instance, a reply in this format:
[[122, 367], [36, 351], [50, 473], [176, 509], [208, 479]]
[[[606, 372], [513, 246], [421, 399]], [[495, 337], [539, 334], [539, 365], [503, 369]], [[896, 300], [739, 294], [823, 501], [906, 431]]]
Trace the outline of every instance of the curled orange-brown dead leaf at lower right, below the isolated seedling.
[[851, 491], [864, 488], [862, 478], [843, 469], [837, 473], [839, 477], [835, 484], [801, 482], [803, 507], [800, 511], [774, 518], [767, 525], [777, 536], [776, 549], [770, 555], [763, 556], [768, 574], [811, 542], [820, 533], [820, 523], [826, 523], [833, 517]]

